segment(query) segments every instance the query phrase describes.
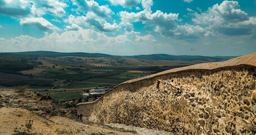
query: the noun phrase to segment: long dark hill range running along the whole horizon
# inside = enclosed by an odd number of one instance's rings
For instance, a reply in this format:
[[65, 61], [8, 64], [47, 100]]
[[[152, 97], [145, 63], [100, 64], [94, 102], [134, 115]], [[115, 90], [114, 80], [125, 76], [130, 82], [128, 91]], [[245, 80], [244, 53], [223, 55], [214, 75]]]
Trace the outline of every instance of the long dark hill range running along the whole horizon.
[[[1, 53], [0, 53], [1, 54]], [[32, 51], [32, 52], [12, 52], [12, 55], [27, 55], [36, 57], [61, 57], [61, 56], [80, 56], [80, 57], [127, 57], [142, 60], [181, 60], [181, 61], [223, 61], [231, 59], [235, 56], [189, 56], [189, 55], [166, 55], [166, 54], [153, 54], [153, 55], [136, 55], [136, 56], [113, 56], [103, 53], [83, 53], [83, 52], [50, 52], [50, 51]]]

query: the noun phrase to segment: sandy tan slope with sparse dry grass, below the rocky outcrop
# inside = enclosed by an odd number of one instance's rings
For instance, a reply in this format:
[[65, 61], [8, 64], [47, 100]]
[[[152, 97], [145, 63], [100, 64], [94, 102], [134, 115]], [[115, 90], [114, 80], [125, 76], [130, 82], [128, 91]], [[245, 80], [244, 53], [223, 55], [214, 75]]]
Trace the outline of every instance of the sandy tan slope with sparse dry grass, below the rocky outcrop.
[[0, 119], [0, 134], [91, 134], [94, 132], [133, 134], [94, 125], [86, 125], [61, 116], [44, 118], [19, 108], [1, 108]]

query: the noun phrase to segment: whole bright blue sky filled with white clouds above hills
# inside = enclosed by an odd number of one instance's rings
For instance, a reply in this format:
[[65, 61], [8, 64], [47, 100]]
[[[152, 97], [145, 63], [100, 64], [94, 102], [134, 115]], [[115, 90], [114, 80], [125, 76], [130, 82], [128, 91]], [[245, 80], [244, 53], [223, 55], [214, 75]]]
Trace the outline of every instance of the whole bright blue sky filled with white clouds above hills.
[[0, 52], [239, 56], [256, 0], [0, 0]]

